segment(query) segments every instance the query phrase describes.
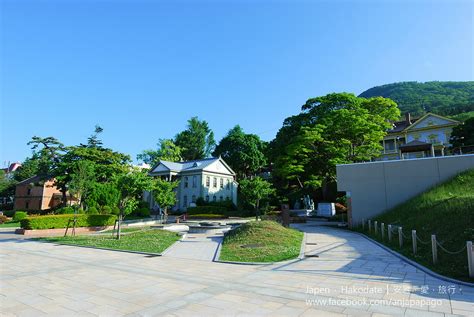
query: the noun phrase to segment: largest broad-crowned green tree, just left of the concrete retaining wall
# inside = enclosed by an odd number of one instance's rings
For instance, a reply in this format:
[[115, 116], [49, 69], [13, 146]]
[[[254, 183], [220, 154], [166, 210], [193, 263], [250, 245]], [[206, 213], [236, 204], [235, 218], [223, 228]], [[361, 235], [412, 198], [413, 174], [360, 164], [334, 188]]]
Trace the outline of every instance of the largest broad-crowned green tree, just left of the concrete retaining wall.
[[322, 187], [325, 197], [336, 165], [380, 155], [390, 121], [399, 116], [397, 105], [382, 97], [334, 93], [309, 99], [299, 115], [285, 120], [272, 142], [274, 175], [280, 184], [286, 182], [286, 189]]

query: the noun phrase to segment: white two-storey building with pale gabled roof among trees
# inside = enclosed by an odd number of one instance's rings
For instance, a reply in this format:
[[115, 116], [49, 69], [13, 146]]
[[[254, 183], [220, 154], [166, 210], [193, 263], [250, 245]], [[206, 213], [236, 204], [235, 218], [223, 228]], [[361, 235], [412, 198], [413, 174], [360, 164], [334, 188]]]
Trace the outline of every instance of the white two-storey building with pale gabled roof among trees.
[[[160, 161], [149, 175], [180, 181], [173, 210], [186, 211], [199, 197], [209, 202], [231, 200], [237, 204], [235, 172], [221, 157], [188, 162]], [[148, 201], [153, 208], [155, 203], [151, 196]]]

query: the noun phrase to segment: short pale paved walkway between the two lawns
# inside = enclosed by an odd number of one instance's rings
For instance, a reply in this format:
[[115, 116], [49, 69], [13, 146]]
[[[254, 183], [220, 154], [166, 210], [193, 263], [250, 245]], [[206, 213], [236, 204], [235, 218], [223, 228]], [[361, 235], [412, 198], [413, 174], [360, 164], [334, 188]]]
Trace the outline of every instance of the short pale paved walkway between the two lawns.
[[187, 234], [183, 240], [175, 243], [164, 256], [180, 259], [212, 261], [222, 239], [222, 234]]

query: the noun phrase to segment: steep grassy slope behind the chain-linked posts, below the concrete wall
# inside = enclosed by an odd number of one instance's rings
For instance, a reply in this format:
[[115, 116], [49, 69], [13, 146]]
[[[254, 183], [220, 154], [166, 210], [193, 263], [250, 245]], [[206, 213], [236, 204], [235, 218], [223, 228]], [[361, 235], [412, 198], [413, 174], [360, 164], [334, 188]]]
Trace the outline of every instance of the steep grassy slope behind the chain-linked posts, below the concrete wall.
[[[398, 234], [393, 235], [392, 243], [387, 234], [382, 241], [379, 230], [365, 234], [384, 243], [397, 252], [417, 261], [420, 264], [442, 275], [460, 280], [469, 279], [467, 268], [467, 252], [451, 255], [438, 247], [438, 264], [433, 265], [431, 253], [431, 234], [436, 234], [438, 242], [449, 251], [458, 251], [466, 245], [466, 241], [474, 241], [474, 170], [464, 172], [453, 179], [436, 186], [427, 192], [408, 200], [383, 215], [374, 218], [378, 223], [402, 226], [404, 247], [398, 246]], [[411, 230], [428, 244], [418, 243], [418, 252], [412, 252]], [[366, 226], [367, 230], [367, 226]]]

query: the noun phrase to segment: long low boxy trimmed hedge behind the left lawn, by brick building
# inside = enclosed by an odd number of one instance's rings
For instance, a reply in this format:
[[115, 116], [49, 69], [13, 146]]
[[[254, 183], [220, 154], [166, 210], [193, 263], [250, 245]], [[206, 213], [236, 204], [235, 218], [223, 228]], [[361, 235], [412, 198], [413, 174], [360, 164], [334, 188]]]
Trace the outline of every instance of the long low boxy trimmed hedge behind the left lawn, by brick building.
[[[77, 215], [77, 227], [104, 227], [112, 226], [115, 223], [115, 215]], [[20, 221], [23, 229], [55, 229], [66, 228], [69, 219], [74, 219], [74, 215], [51, 215], [34, 216]]]

